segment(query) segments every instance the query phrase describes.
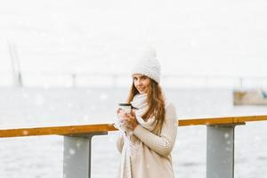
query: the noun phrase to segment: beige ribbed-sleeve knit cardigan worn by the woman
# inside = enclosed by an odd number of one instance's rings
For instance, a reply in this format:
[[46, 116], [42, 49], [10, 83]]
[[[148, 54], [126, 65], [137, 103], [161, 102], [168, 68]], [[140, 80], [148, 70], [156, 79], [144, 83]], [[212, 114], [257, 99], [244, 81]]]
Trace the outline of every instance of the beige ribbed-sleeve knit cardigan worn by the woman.
[[[150, 132], [141, 125], [135, 127], [131, 142], [133, 144], [139, 142], [139, 144], [136, 144], [139, 146], [130, 155], [132, 178], [174, 177], [171, 151], [174, 148], [177, 134], [176, 119], [174, 104], [167, 103], [166, 119], [160, 133]], [[119, 136], [117, 139], [117, 150], [120, 153], [125, 146], [124, 142], [125, 138]], [[119, 171], [119, 173], [122, 172]], [[124, 177], [124, 175], [119, 174], [119, 177]]]

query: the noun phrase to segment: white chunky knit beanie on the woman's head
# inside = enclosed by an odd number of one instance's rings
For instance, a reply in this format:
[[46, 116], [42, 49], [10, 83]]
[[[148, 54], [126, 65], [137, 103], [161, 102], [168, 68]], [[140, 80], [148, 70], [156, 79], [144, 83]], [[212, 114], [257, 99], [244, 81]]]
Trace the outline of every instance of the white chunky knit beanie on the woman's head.
[[160, 82], [161, 67], [157, 60], [157, 53], [154, 49], [147, 49], [142, 53], [140, 59], [135, 63], [132, 75], [142, 74]]

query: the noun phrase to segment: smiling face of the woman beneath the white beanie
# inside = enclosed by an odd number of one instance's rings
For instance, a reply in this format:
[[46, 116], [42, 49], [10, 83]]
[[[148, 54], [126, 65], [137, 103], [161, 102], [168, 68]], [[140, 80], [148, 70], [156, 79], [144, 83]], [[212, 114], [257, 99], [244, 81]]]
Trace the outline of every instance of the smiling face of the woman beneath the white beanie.
[[150, 77], [146, 77], [142, 74], [134, 74], [134, 86], [139, 93], [148, 93], [150, 87]]

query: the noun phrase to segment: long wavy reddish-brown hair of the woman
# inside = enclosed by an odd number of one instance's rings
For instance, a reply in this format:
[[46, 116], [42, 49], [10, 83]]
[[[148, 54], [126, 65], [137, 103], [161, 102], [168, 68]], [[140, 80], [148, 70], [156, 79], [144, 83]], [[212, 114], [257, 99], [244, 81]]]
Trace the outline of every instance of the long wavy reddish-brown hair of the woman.
[[[133, 101], [134, 96], [138, 94], [138, 90], [133, 84], [131, 85], [130, 92], [128, 95], [127, 102], [130, 103]], [[165, 115], [166, 115], [166, 109], [165, 109], [165, 100], [164, 100], [164, 94], [162, 92], [162, 89], [158, 83], [150, 78], [150, 85], [148, 89], [148, 110], [142, 115], [143, 119], [147, 119], [149, 117], [154, 116], [156, 119], [156, 126], [154, 128], [154, 131], [158, 129], [161, 130], [162, 125], [165, 121]]]

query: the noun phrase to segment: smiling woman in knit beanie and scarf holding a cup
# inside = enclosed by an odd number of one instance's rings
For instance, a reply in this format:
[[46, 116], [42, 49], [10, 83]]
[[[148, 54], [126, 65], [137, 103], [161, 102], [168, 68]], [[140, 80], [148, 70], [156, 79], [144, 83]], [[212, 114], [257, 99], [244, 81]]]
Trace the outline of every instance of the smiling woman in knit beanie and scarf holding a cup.
[[156, 53], [137, 62], [128, 102], [133, 110], [117, 110], [125, 134], [117, 140], [121, 153], [120, 178], [173, 178], [171, 151], [177, 134], [174, 105], [165, 100]]

